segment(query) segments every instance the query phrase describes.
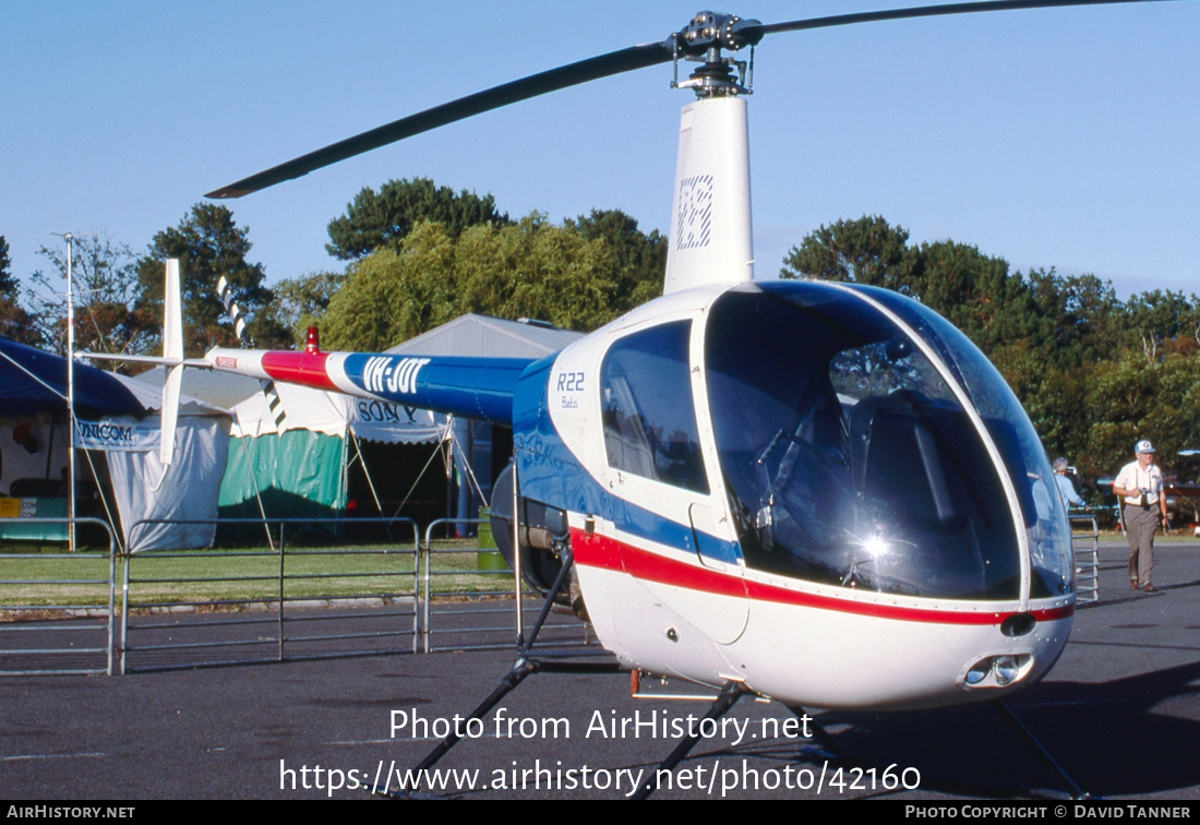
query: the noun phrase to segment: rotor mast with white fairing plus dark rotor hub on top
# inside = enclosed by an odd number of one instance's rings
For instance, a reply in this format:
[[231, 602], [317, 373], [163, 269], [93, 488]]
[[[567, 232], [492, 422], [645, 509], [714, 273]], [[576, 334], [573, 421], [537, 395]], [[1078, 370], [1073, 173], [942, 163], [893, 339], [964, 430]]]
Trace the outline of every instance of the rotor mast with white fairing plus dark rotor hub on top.
[[[744, 96], [746, 64], [724, 56], [762, 37], [757, 20], [701, 12], [667, 40], [673, 86], [696, 100], [679, 116], [679, 149], [671, 207], [665, 294], [708, 283], [754, 280], [750, 221], [750, 144]], [[679, 58], [700, 62], [678, 80]], [[737, 68], [737, 74], [734, 74]]]

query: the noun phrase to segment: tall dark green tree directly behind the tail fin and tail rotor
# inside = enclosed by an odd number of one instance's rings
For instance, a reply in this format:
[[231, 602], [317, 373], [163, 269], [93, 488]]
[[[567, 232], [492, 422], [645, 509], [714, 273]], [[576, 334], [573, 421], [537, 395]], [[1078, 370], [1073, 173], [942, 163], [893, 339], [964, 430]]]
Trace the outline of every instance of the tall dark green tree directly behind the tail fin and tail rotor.
[[217, 280], [223, 275], [233, 289], [234, 300], [246, 313], [247, 333], [256, 346], [288, 346], [289, 333], [266, 312], [271, 291], [264, 285], [266, 273], [260, 263], [250, 263], [250, 229], [239, 227], [226, 207], [198, 203], [178, 227], [154, 237], [146, 253], [138, 259], [138, 277], [148, 300], [161, 303], [163, 265], [167, 258], [179, 258], [184, 309], [184, 348], [200, 355], [215, 346], [238, 346], [233, 324], [217, 295]]

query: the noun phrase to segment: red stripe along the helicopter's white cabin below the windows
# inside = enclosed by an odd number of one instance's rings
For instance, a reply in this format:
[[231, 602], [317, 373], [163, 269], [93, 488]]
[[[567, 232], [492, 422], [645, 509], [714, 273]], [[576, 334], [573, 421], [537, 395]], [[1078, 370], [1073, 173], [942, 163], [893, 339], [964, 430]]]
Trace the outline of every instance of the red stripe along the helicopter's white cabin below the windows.
[[[676, 585], [704, 593], [736, 596], [754, 602], [775, 602], [778, 604], [796, 604], [817, 610], [835, 610], [876, 618], [894, 618], [905, 622], [929, 622], [936, 624], [1000, 624], [1015, 611], [1009, 612], [962, 612], [958, 610], [934, 610], [929, 608], [905, 608], [890, 604], [875, 604], [857, 599], [842, 599], [829, 596], [804, 593], [787, 587], [768, 585], [761, 581], [742, 579], [709, 570], [697, 564], [667, 558], [631, 544], [618, 542], [607, 536], [588, 534], [582, 530], [571, 530], [571, 552], [575, 561], [588, 567], [628, 573], [635, 579]], [[1075, 612], [1075, 605], [1030, 611], [1039, 622], [1067, 618]]]

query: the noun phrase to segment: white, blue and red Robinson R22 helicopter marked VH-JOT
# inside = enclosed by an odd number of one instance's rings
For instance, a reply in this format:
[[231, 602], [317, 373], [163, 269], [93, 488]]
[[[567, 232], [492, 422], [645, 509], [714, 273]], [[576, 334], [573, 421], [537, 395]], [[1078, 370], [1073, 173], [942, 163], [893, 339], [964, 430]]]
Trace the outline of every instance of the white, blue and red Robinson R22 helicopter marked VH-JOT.
[[[512, 428], [493, 532], [545, 605], [478, 716], [527, 675], [553, 669], [530, 648], [556, 603], [590, 622], [618, 668], [720, 689], [713, 715], [742, 695], [793, 710], [998, 710], [1051, 669], [1075, 610], [1070, 532], [1045, 453], [996, 369], [928, 307], [862, 285], [756, 277], [749, 66], [737, 55], [749, 49], [752, 64], [766, 36], [790, 31], [1096, 1], [769, 25], [701, 12], [664, 41], [295, 159], [208, 197], [242, 197], [626, 71], [671, 64], [672, 84], [694, 92], [680, 114], [664, 295], [562, 352], [336, 353], [311, 330], [298, 352], [184, 359], [172, 331], [180, 322], [168, 315], [168, 361], [173, 372], [203, 366]], [[682, 64], [697, 66], [680, 79]], [[168, 309], [178, 315], [178, 301]], [[164, 393], [178, 393], [178, 381]]]

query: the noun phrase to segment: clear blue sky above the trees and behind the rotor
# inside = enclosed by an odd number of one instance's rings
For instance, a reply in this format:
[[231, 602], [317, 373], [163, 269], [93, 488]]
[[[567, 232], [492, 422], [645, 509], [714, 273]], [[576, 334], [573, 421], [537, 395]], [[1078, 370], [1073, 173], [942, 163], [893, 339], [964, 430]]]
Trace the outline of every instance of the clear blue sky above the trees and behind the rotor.
[[[764, 23], [916, 5], [760, 0]], [[695, 1], [8, 0], [0, 235], [142, 252], [203, 193], [398, 116], [658, 41]], [[878, 214], [1014, 268], [1200, 292], [1200, 2], [997, 12], [776, 35], [750, 98], [760, 276], [822, 223]], [[618, 208], [666, 229], [670, 66], [490, 113], [226, 202], [271, 281], [340, 269], [325, 226], [390, 178], [554, 221]]]

